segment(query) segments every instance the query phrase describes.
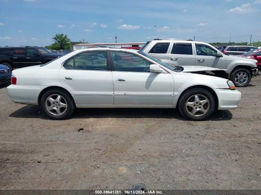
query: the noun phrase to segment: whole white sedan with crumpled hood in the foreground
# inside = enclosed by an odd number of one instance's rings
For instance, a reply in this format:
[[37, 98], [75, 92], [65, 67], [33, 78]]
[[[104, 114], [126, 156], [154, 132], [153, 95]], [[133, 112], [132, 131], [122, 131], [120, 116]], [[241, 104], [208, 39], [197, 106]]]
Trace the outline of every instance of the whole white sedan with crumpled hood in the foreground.
[[[223, 77], [223, 78], [221, 78]], [[179, 108], [189, 120], [237, 108], [241, 93], [225, 70], [166, 64], [142, 51], [90, 48], [12, 72], [9, 97], [40, 104], [52, 119], [76, 108]]]

